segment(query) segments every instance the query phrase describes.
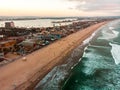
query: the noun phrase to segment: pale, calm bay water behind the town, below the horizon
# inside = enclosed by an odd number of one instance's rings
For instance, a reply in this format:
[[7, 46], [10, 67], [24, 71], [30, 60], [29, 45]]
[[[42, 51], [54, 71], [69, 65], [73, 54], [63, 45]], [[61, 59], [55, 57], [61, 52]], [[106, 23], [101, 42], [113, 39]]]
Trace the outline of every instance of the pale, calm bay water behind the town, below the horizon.
[[[51, 27], [53, 26], [52, 21], [62, 21], [67, 19], [36, 19], [36, 20], [13, 20], [16, 27]], [[4, 27], [6, 21], [0, 21], [0, 27]], [[69, 23], [61, 23], [61, 25], [67, 25]], [[59, 24], [56, 24], [57, 26]]]

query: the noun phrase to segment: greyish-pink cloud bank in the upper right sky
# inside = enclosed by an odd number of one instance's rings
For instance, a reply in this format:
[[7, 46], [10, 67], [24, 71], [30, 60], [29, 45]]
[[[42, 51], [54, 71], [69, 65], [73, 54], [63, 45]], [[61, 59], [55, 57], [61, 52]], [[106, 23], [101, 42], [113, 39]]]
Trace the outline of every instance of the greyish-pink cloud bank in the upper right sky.
[[120, 15], [120, 0], [68, 0], [76, 2], [73, 7], [84, 12], [105, 12]]

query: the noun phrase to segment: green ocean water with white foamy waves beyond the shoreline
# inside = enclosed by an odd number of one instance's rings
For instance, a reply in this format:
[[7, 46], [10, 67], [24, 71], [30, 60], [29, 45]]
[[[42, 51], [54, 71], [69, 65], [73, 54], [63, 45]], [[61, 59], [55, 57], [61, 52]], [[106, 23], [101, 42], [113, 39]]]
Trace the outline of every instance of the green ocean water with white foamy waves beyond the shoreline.
[[120, 90], [120, 20], [97, 33], [63, 90]]

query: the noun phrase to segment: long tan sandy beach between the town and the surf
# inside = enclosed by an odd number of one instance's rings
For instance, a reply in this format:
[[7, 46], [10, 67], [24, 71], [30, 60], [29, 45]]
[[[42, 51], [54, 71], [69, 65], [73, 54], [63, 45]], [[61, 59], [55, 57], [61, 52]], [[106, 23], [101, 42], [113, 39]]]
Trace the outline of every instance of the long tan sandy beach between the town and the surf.
[[41, 80], [54, 66], [64, 62], [63, 58], [106, 23], [102, 22], [80, 30], [0, 67], [0, 90], [28, 90], [34, 86], [38, 78]]

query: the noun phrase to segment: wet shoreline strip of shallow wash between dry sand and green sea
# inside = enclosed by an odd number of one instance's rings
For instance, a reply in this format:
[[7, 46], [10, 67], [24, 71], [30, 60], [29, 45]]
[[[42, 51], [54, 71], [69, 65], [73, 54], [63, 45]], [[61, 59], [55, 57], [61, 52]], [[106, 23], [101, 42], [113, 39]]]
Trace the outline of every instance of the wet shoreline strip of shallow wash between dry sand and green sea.
[[42, 78], [42, 80], [38, 82], [34, 90], [61, 90], [65, 82], [68, 80], [72, 69], [81, 61], [89, 42], [97, 37], [97, 34], [103, 27], [104, 25], [93, 32], [90, 37], [83, 41], [83, 43], [75, 47], [70, 54], [63, 59], [65, 61], [62, 64], [56, 65], [47, 75], [45, 75], [44, 78]]

